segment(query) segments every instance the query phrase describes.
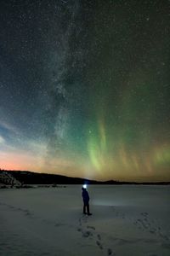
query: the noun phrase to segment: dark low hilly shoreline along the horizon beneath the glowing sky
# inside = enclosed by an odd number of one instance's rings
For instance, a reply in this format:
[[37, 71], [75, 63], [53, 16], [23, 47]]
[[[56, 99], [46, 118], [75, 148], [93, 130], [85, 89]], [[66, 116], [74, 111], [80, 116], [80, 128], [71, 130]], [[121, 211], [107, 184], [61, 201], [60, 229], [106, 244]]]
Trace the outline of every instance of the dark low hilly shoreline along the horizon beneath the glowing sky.
[[[122, 182], [116, 180], [109, 180], [105, 182], [90, 180], [81, 177], [67, 177], [57, 174], [37, 173], [28, 171], [9, 171], [0, 169], [0, 183], [3, 185], [10, 185], [20, 188], [26, 185], [42, 184], [53, 185], [58, 184], [105, 184], [105, 185], [121, 185], [121, 184], [141, 184], [141, 185], [169, 185], [170, 182], [155, 182], [155, 183], [137, 183], [137, 182]], [[29, 186], [27, 186], [29, 187]]]

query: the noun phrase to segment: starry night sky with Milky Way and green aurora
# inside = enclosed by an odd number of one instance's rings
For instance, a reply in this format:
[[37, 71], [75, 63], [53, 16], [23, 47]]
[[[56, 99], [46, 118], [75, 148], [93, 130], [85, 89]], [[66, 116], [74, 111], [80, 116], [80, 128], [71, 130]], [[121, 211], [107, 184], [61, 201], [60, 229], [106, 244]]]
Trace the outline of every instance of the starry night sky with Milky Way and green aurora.
[[169, 181], [170, 1], [0, 6], [0, 167]]

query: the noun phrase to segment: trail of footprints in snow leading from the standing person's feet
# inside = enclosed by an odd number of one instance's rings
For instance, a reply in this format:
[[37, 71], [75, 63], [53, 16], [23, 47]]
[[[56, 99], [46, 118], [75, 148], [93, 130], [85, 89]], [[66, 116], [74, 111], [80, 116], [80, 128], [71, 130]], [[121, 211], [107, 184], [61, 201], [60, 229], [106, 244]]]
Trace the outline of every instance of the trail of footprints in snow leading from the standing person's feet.
[[[82, 233], [82, 237], [93, 239], [99, 249], [105, 253], [105, 246], [102, 241], [102, 237], [96, 232], [94, 226], [88, 225], [87, 216], [82, 216], [82, 218], [79, 218], [79, 227], [77, 231]], [[114, 253], [111, 248], [106, 248], [106, 255], [116, 256], [116, 253]]]

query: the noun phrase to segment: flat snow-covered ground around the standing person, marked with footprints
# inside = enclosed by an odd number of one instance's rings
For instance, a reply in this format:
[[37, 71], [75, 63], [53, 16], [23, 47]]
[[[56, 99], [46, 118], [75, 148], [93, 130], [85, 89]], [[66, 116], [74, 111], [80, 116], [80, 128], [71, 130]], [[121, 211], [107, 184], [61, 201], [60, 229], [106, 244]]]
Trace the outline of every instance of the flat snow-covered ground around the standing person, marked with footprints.
[[170, 255], [169, 186], [0, 190], [0, 255]]

